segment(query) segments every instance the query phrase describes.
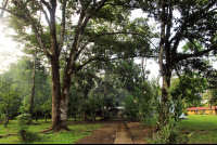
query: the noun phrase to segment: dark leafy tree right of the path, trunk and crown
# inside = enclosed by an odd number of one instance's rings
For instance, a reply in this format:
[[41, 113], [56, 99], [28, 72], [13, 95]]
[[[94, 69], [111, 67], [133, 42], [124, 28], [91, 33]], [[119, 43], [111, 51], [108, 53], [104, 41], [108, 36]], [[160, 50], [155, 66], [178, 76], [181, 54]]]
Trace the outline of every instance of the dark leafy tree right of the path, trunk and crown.
[[[170, 87], [173, 70], [181, 67], [178, 63], [183, 60], [212, 55], [217, 49], [216, 0], [138, 0], [137, 2], [144, 12], [149, 13], [149, 16], [154, 17], [161, 25], [158, 63], [163, 77], [162, 107], [166, 108], [166, 88]], [[175, 15], [175, 11], [180, 14], [179, 17]], [[178, 51], [181, 41], [191, 44], [188, 52]]]

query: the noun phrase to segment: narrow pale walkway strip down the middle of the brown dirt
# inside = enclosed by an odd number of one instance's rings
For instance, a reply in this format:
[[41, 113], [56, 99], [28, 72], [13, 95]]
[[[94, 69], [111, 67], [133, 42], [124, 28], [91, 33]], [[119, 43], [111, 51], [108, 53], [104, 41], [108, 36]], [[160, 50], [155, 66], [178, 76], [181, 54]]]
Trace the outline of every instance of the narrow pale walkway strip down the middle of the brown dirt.
[[133, 144], [129, 129], [125, 121], [119, 121], [114, 144]]

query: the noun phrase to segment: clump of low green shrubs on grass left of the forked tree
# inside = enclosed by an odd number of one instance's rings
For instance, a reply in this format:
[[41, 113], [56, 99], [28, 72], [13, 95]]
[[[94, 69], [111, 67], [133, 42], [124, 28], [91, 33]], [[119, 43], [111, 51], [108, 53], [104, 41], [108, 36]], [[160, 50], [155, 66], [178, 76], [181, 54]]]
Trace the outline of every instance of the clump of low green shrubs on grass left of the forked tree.
[[22, 142], [28, 143], [40, 140], [37, 133], [28, 131], [27, 123], [30, 121], [30, 114], [21, 114], [16, 117], [18, 126], [18, 136]]

